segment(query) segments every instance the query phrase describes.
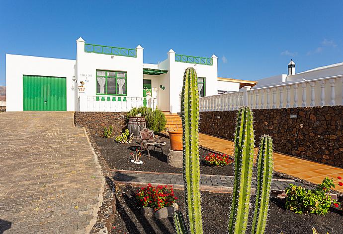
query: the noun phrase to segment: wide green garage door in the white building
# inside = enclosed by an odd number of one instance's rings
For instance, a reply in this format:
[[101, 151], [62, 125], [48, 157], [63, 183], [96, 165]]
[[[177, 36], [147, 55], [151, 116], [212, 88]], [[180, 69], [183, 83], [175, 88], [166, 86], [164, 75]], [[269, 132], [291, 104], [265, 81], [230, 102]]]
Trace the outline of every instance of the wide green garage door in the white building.
[[66, 77], [23, 75], [24, 111], [67, 111]]

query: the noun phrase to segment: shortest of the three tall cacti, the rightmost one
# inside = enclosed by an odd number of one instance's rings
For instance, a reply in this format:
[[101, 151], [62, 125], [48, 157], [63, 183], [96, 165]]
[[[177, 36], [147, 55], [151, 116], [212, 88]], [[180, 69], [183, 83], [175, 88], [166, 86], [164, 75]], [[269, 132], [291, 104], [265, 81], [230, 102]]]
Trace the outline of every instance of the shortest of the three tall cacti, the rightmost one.
[[271, 177], [273, 174], [273, 141], [270, 136], [260, 139], [257, 154], [257, 191], [252, 234], [263, 234], [267, 221]]

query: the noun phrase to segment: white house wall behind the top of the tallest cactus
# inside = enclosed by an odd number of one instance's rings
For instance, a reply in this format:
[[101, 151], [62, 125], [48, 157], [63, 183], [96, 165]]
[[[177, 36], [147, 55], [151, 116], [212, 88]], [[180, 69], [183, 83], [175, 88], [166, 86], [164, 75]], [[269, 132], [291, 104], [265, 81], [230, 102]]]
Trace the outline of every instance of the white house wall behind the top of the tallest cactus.
[[169, 59], [169, 77], [170, 77], [170, 112], [180, 112], [180, 94], [182, 91], [183, 74], [187, 67], [193, 67], [198, 77], [206, 78], [206, 96], [216, 95], [218, 70], [217, 57], [212, 56], [213, 65], [192, 64], [175, 61], [175, 52], [168, 52]]

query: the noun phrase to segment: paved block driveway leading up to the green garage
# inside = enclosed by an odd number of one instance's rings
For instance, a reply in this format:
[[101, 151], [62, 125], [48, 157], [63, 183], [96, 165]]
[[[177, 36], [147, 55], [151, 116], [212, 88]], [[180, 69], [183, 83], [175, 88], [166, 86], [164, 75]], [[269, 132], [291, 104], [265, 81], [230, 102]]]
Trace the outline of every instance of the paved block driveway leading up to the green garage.
[[0, 234], [85, 234], [102, 182], [74, 113], [0, 114]]

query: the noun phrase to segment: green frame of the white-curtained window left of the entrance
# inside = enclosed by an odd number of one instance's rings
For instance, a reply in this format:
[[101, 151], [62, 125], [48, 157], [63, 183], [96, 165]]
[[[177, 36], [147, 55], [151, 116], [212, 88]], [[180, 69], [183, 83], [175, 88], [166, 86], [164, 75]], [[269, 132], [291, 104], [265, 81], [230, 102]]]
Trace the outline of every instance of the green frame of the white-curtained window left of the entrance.
[[[126, 71], [110, 71], [110, 70], [96, 70], [95, 71], [95, 92], [96, 95], [99, 96], [127, 96], [127, 72]], [[98, 72], [105, 72], [105, 75], [98, 75]], [[114, 75], [110, 75], [110, 73], [114, 73]], [[118, 73], [124, 73], [125, 77], [118, 77]], [[105, 78], [105, 84], [104, 84], [104, 93], [98, 93], [98, 89], [97, 89], [97, 85], [98, 85], [98, 81], [97, 78], [101, 77], [101, 78]], [[108, 93], [108, 78], [114, 78], [115, 79], [115, 93]], [[125, 94], [118, 94], [118, 78], [122, 79], [125, 78]], [[100, 84], [99, 84], [100, 85]], [[100, 88], [101, 89], [101, 88]]]

